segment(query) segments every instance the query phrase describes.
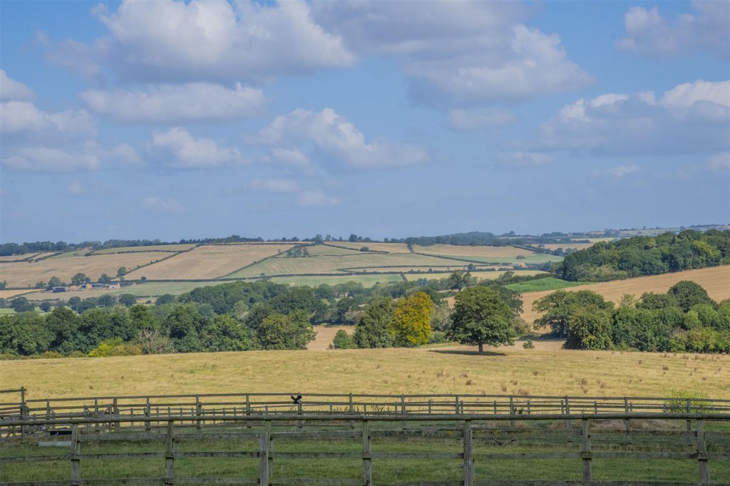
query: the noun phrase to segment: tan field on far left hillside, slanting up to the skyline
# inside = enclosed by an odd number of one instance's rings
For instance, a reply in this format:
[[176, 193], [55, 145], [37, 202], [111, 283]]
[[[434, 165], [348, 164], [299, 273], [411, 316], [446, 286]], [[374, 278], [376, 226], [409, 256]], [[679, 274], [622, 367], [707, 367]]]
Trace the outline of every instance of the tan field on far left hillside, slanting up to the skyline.
[[130, 272], [129, 279], [142, 276], [153, 280], [166, 279], [215, 279], [260, 261], [279, 252], [285, 252], [291, 244], [215, 244], [197, 247], [189, 252], [174, 255], [160, 263], [139, 271]]

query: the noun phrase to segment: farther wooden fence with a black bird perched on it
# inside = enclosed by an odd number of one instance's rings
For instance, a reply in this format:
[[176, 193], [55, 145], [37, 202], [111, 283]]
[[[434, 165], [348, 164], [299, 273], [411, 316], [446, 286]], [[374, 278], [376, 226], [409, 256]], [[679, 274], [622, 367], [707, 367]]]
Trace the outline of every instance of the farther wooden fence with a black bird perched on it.
[[[730, 413], [730, 400], [672, 397], [588, 397], [510, 395], [368, 395], [301, 393], [301, 403], [293, 403], [291, 393], [215, 393], [156, 396], [98, 396], [80, 398], [27, 399], [20, 401], [0, 394], [0, 417], [53, 419], [74, 417], [183, 417], [220, 415], [243, 417], [250, 414], [600, 414], [600, 413]], [[293, 393], [294, 396], [300, 393]], [[5, 396], [12, 396], [12, 393]], [[0, 423], [0, 434], [3, 431]]]

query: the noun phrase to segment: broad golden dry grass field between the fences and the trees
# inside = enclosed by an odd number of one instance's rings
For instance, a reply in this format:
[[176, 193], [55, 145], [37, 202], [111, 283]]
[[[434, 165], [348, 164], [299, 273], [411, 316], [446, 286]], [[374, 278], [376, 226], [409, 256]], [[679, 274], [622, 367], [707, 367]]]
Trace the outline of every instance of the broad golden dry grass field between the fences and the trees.
[[[730, 356], [473, 348], [251, 351], [3, 361], [28, 398], [164, 393], [499, 393], [730, 398]], [[64, 379], [59, 379], [64, 377]]]

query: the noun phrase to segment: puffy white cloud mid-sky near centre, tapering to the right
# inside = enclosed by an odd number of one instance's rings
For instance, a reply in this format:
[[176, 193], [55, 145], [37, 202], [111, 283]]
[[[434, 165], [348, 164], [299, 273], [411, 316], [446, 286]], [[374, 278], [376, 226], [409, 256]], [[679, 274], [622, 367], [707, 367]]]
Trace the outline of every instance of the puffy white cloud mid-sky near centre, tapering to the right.
[[420, 147], [383, 138], [365, 142], [365, 136], [334, 109], [321, 112], [296, 109], [276, 117], [250, 143], [286, 150], [312, 145], [314, 156], [336, 169], [385, 169], [429, 161]]

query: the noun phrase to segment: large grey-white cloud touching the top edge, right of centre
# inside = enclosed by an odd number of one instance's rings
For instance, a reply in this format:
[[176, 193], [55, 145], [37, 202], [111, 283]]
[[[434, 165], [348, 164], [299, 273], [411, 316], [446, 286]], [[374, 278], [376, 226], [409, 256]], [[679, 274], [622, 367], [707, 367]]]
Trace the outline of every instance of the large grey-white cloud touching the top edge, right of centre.
[[315, 1], [312, 13], [353, 51], [395, 56], [426, 104], [518, 101], [593, 81], [512, 2]]

